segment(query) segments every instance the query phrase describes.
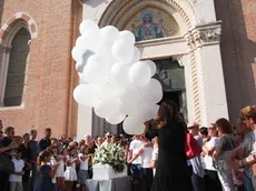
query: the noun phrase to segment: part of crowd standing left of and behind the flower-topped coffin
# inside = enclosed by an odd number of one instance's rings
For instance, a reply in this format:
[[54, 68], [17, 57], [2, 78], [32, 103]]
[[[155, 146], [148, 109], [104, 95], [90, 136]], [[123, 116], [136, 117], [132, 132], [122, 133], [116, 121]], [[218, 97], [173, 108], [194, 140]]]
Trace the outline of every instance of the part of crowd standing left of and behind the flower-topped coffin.
[[32, 129], [22, 137], [14, 135], [14, 128], [0, 130], [0, 154], [14, 163], [14, 172], [1, 171], [1, 191], [75, 191], [86, 190], [86, 180], [92, 178], [92, 155], [102, 143], [116, 143], [129, 152], [130, 138], [111, 135], [92, 139], [86, 135], [79, 142], [65, 135], [51, 138], [51, 129], [45, 130], [37, 141], [38, 131]]

